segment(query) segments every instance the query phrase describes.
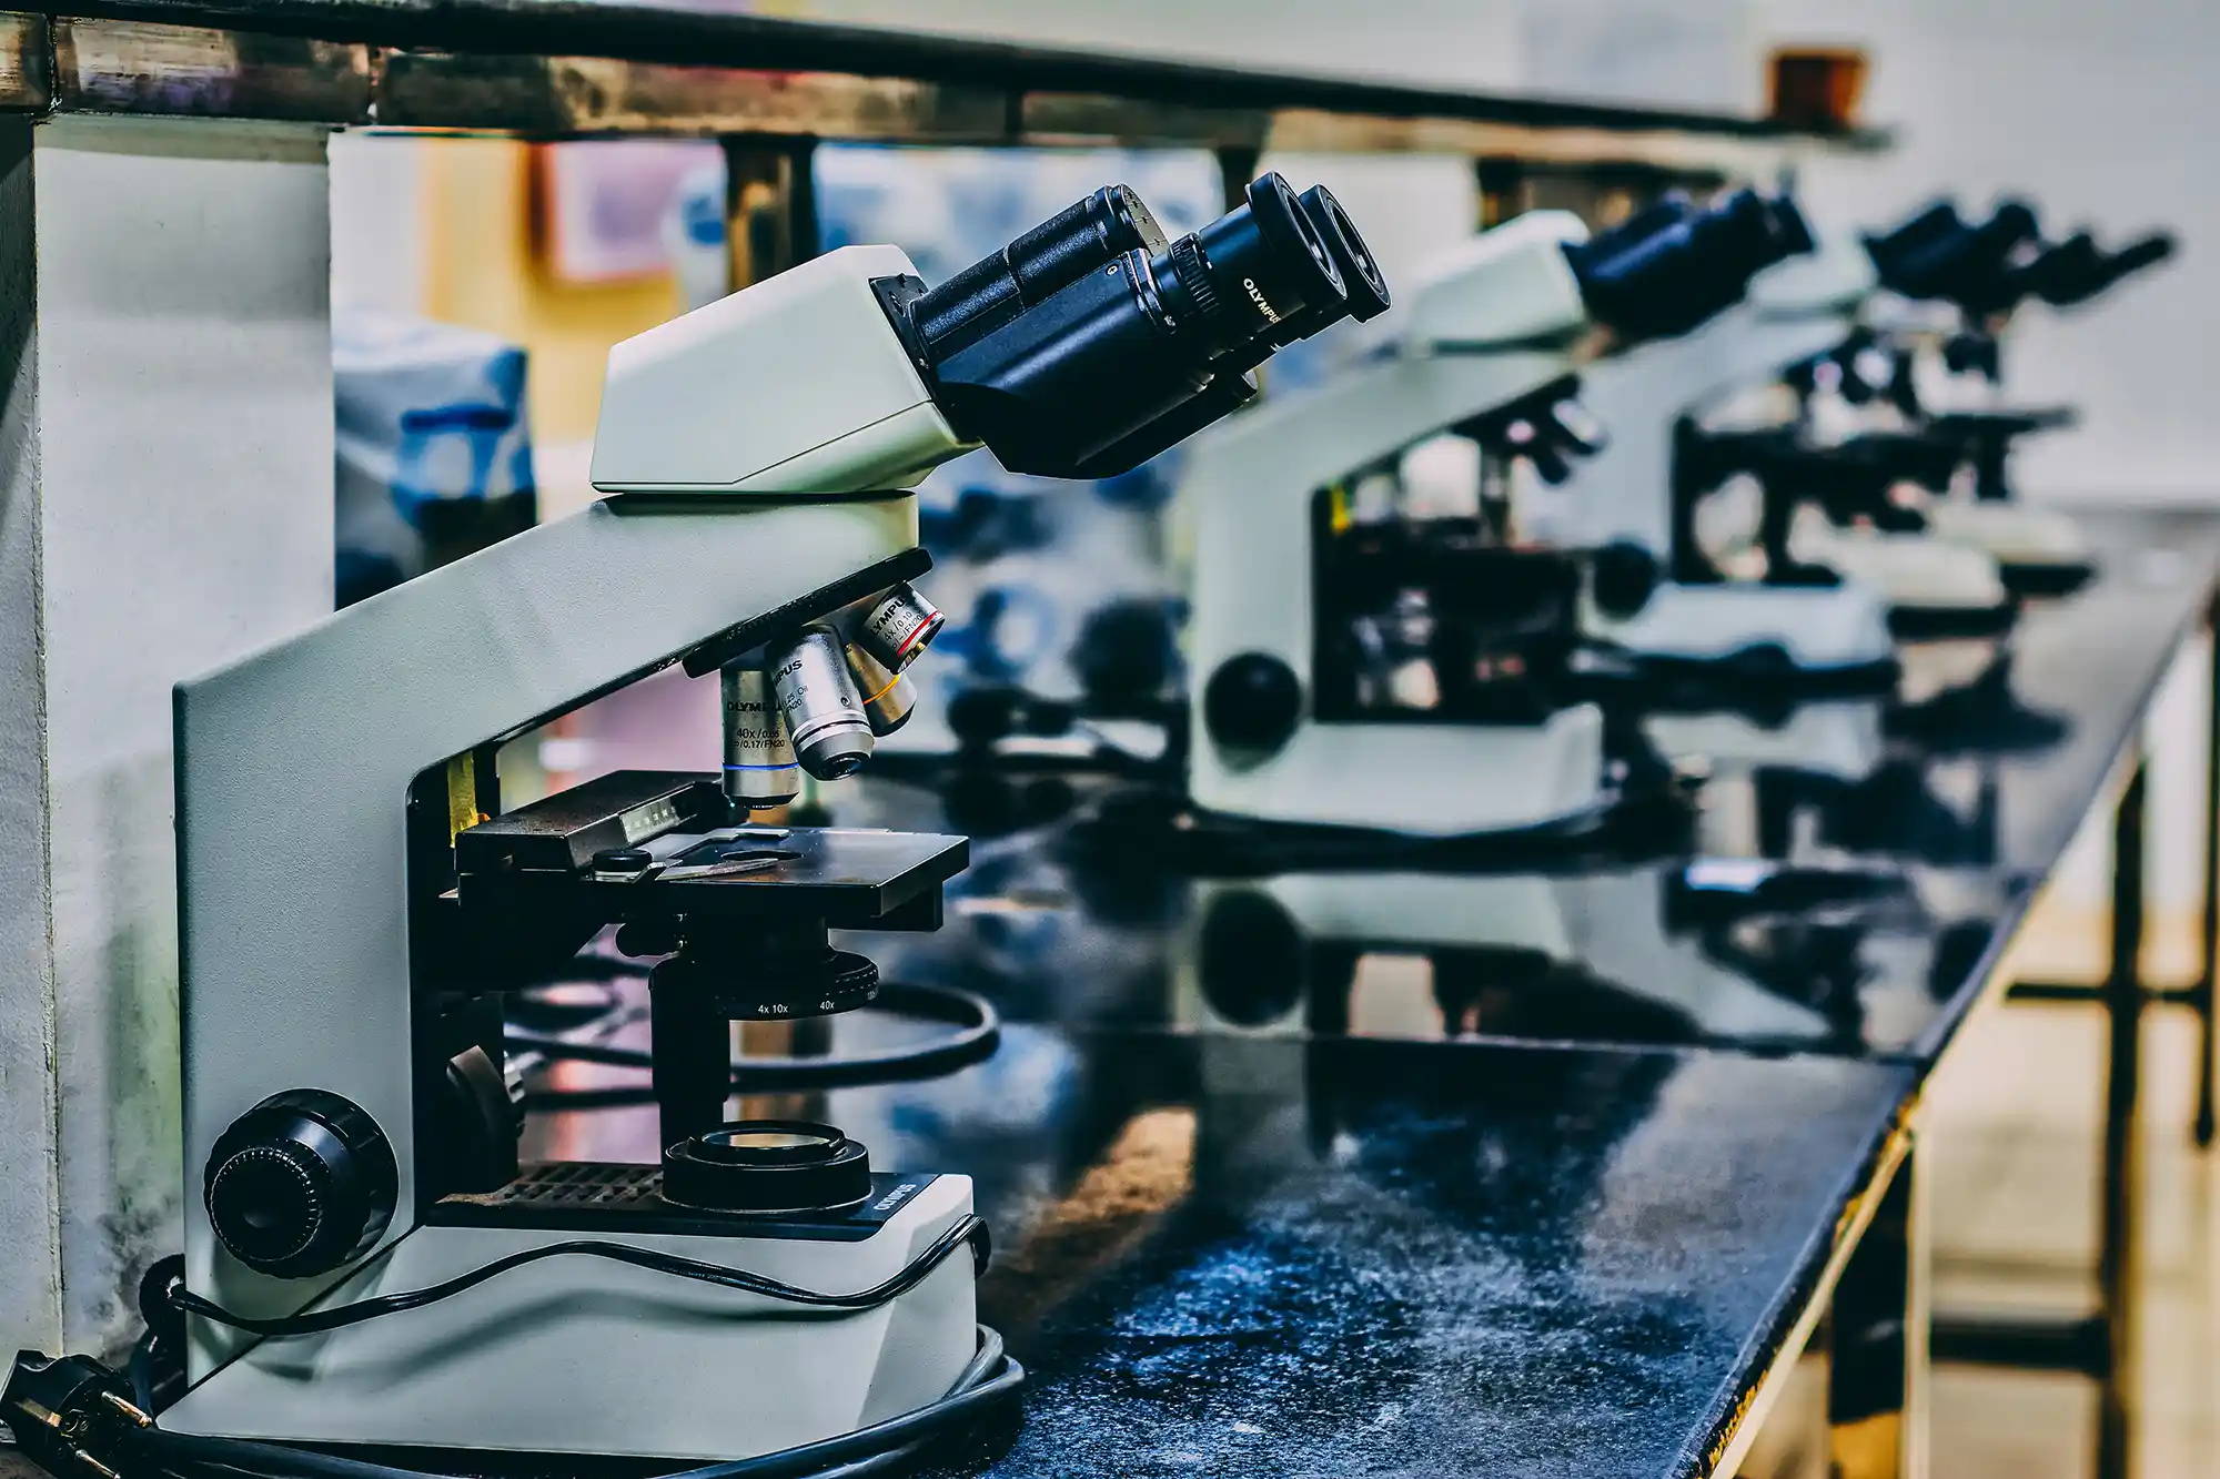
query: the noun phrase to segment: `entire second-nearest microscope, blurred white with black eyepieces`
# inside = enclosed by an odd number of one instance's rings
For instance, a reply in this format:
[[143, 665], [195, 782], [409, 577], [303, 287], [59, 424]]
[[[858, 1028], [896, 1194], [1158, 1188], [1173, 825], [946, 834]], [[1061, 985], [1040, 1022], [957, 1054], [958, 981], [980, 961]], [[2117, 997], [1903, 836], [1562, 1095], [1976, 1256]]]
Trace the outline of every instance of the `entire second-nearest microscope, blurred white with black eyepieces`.
[[1199, 440], [1179, 497], [1194, 804], [1434, 837], [1610, 811], [1603, 713], [1563, 691], [1583, 555], [1514, 546], [1485, 515], [1368, 504], [1459, 444], [1563, 477], [1596, 446], [1576, 373], [1685, 333], [1800, 240], [1794, 207], [1752, 191], [1672, 198], [1594, 238], [1534, 211], [1461, 244], [1385, 355]]

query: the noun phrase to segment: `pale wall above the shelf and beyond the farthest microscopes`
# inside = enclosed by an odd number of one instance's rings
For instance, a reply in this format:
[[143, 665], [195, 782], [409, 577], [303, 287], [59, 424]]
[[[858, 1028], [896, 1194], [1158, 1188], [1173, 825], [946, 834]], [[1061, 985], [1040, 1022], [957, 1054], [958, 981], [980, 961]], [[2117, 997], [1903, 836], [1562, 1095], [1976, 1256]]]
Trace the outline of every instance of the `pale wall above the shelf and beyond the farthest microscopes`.
[[1829, 218], [1887, 222], [1940, 191], [2025, 191], [2056, 231], [2173, 227], [2184, 253], [2073, 318], [2025, 315], [2014, 384], [2085, 424], [2029, 449], [2034, 493], [2211, 497], [2220, 417], [2220, 4], [2209, 0], [801, 0], [799, 13], [1043, 44], [1447, 87], [1754, 111], [1774, 42], [1856, 42], [1867, 118], [1900, 144], [1807, 171]]

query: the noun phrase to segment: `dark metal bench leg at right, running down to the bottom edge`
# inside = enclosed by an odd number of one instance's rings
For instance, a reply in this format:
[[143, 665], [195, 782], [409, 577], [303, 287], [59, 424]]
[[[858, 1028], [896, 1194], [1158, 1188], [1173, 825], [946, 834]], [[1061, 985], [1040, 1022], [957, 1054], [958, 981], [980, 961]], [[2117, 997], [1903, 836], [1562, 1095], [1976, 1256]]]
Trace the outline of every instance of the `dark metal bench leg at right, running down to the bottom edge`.
[[2111, 824], [2111, 962], [2105, 973], [2109, 1057], [2105, 1073], [2105, 1168], [2098, 1239], [2098, 1292], [2105, 1319], [2105, 1375], [2098, 1384], [2098, 1479], [2131, 1472], [2136, 1335], [2142, 1304], [2138, 1221], [2142, 1210], [2142, 799], [2145, 759], [2120, 793]]

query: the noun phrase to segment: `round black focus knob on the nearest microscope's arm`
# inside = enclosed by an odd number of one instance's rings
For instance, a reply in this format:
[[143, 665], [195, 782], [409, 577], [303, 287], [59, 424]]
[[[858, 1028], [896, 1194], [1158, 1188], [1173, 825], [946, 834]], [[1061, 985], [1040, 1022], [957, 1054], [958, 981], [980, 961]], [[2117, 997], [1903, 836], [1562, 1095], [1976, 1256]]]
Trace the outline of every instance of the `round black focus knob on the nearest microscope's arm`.
[[231, 1257], [306, 1279], [369, 1252], [393, 1219], [397, 1186], [393, 1146], [364, 1108], [289, 1088], [218, 1137], [202, 1197]]

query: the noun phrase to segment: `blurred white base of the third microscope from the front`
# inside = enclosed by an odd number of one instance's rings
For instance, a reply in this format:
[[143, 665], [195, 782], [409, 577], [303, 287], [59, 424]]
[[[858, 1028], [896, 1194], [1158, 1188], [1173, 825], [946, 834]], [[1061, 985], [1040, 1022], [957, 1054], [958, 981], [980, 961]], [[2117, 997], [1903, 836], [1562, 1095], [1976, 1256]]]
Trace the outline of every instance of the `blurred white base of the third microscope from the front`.
[[1885, 686], [1896, 646], [1883, 604], [1860, 584], [1767, 586], [1752, 580], [1661, 584], [1625, 622], [1596, 635], [1638, 666], [1809, 677], [1827, 686]]

